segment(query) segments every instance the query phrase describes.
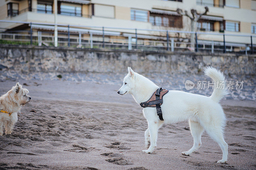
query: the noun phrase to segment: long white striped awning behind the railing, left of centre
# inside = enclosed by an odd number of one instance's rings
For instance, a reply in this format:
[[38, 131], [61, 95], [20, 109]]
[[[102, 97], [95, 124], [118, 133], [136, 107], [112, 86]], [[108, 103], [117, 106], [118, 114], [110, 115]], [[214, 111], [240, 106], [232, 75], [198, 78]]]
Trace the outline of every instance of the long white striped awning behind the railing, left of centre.
[[[38, 24], [32, 24], [33, 29], [41, 29], [41, 30], [49, 30], [54, 31], [54, 26], [47, 26], [47, 25], [38, 25]], [[58, 31], [68, 32], [68, 27], [58, 26]], [[83, 28], [69, 28], [69, 31], [71, 33], [92, 33], [94, 35], [102, 35], [103, 32], [100, 30], [90, 30], [90, 29], [83, 29]], [[111, 32], [111, 31], [104, 31], [105, 35], [120, 35], [119, 32]]]

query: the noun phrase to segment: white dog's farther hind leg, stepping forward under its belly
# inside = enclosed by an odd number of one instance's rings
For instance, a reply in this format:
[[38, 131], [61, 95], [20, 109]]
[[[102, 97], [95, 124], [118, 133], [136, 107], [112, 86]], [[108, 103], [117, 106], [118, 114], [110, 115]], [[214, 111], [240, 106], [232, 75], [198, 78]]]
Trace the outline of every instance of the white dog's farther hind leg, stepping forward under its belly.
[[194, 122], [190, 119], [189, 119], [189, 127], [190, 127], [191, 134], [194, 138], [194, 144], [191, 149], [189, 149], [186, 152], [182, 152], [182, 155], [187, 155], [187, 156], [189, 156], [192, 152], [195, 152], [198, 148], [201, 147], [202, 145], [201, 136], [204, 131], [204, 128], [198, 122]]

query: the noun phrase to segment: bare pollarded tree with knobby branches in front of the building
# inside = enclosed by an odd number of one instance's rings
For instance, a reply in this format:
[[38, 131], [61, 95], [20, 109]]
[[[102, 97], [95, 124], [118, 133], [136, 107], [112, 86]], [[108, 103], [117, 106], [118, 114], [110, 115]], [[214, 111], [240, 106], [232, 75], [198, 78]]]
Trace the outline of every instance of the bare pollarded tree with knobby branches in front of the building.
[[[183, 12], [180, 8], [177, 9], [177, 12], [180, 15], [187, 16], [191, 20], [191, 31], [196, 32], [196, 22], [202, 17], [202, 15], [205, 15], [209, 11], [207, 6], [204, 8], [205, 8], [205, 12], [201, 14], [198, 13], [195, 9], [191, 9], [190, 11], [192, 16], [188, 14], [188, 11]], [[195, 34], [191, 34], [190, 41], [191, 41], [191, 48], [195, 49]]]

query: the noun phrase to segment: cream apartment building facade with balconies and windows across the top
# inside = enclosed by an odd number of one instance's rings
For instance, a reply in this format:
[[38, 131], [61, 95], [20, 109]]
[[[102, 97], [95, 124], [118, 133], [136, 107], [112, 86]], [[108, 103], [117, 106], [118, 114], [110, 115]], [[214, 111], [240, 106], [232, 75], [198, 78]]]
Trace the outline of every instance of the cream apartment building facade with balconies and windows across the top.
[[[53, 6], [53, 0], [2, 0], [0, 19], [54, 23]], [[205, 6], [209, 8], [209, 12], [197, 22], [197, 31], [234, 35], [256, 33], [256, 0], [58, 0], [57, 22], [81, 26], [190, 31], [190, 19], [178, 14], [177, 8], [186, 10], [191, 15], [191, 9], [203, 13]], [[28, 25], [14, 23], [0, 23], [0, 27], [2, 30], [29, 29]], [[33, 29], [44, 28], [37, 26]], [[123, 33], [134, 31], [123, 30]], [[164, 36], [159, 32], [138, 33]], [[199, 39], [223, 41], [223, 36], [201, 34]], [[226, 41], [250, 44], [251, 39], [227, 36]], [[253, 38], [253, 41], [256, 42], [256, 38]]]

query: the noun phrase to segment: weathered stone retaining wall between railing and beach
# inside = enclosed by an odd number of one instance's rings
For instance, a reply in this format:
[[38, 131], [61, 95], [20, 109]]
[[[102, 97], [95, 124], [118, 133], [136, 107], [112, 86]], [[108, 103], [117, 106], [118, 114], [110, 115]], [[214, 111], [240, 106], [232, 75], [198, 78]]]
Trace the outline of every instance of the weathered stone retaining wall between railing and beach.
[[225, 74], [256, 75], [256, 56], [160, 53], [0, 45], [0, 69], [28, 72], [120, 73], [131, 66], [140, 73], [197, 74], [206, 65]]

